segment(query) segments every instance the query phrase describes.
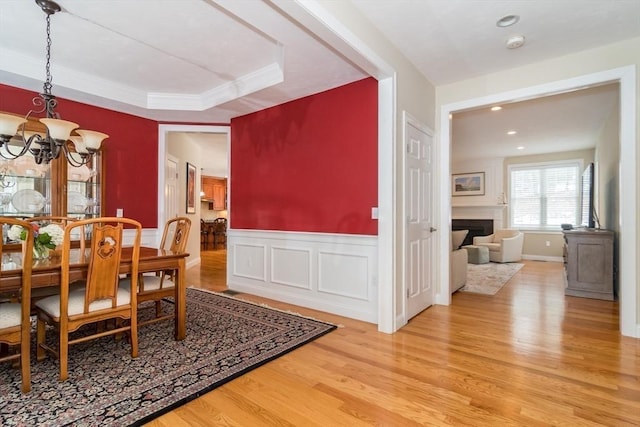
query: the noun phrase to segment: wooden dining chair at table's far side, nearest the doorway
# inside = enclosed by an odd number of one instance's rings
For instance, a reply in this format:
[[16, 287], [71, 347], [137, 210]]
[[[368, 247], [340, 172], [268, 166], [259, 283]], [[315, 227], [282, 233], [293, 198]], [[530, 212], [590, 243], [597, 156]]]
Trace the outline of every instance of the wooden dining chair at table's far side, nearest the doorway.
[[[174, 253], [184, 253], [189, 240], [191, 220], [186, 217], [176, 217], [168, 220], [164, 226], [160, 249]], [[171, 236], [171, 237], [169, 237]], [[155, 317], [138, 322], [138, 326], [155, 323], [160, 320], [171, 319], [173, 313], [163, 314], [162, 299], [175, 295], [175, 271], [163, 270], [157, 273], [140, 274], [138, 278], [138, 304], [145, 301], [155, 301]], [[128, 287], [130, 278], [121, 279], [121, 286]]]

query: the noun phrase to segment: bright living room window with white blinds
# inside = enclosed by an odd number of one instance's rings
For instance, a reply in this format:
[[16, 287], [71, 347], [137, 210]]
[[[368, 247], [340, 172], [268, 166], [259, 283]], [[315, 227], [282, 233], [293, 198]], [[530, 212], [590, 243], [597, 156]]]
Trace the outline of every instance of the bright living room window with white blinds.
[[580, 223], [581, 161], [509, 167], [509, 226], [559, 230]]

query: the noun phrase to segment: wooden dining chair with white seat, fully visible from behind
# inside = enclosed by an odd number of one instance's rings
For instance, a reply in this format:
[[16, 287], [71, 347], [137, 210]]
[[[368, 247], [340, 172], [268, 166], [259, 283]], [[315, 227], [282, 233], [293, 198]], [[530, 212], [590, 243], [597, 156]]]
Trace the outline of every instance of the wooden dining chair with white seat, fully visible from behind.
[[[130, 261], [130, 288], [119, 286], [120, 271], [124, 264], [122, 250], [124, 228], [133, 230]], [[71, 236], [78, 227], [91, 228], [87, 250], [72, 250]], [[64, 229], [61, 259], [60, 294], [36, 303], [37, 329], [36, 356], [38, 361], [49, 352], [60, 361], [60, 381], [68, 377], [69, 346], [94, 338], [127, 332], [131, 344], [131, 357], [138, 357], [138, 319], [136, 289], [142, 226], [129, 218], [100, 217], [69, 223]], [[85, 286], [70, 289], [70, 271], [73, 264], [87, 264]], [[95, 333], [72, 336], [83, 325], [116, 320], [111, 329], [98, 328]], [[128, 320], [128, 324], [124, 321]], [[58, 348], [46, 342], [46, 325], [53, 325], [58, 333]]]

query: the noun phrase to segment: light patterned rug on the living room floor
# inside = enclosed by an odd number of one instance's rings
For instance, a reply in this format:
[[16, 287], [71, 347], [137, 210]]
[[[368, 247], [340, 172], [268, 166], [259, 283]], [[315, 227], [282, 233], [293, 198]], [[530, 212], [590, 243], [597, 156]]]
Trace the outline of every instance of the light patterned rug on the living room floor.
[[467, 266], [467, 283], [461, 292], [495, 295], [524, 264], [490, 262], [488, 264], [469, 264]]

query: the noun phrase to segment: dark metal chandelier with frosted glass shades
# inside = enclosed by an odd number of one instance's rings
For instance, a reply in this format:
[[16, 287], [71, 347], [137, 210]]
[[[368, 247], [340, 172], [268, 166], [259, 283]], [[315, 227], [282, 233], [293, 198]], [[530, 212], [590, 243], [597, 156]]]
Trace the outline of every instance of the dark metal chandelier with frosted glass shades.
[[[46, 14], [47, 22], [47, 57], [46, 80], [43, 92], [33, 98], [35, 110], [29, 111], [25, 117], [0, 113], [0, 156], [8, 160], [17, 159], [27, 153], [33, 155], [37, 164], [48, 164], [61, 155], [72, 166], [82, 166], [89, 162], [100, 149], [100, 144], [109, 135], [102, 132], [77, 129], [78, 124], [60, 119], [55, 111], [58, 101], [51, 94], [51, 15], [62, 9], [52, 0], [35, 0]], [[45, 113], [39, 119], [46, 131], [30, 131], [27, 129], [32, 114]], [[74, 135], [71, 135], [74, 132]], [[69, 143], [73, 143], [71, 150]]]

